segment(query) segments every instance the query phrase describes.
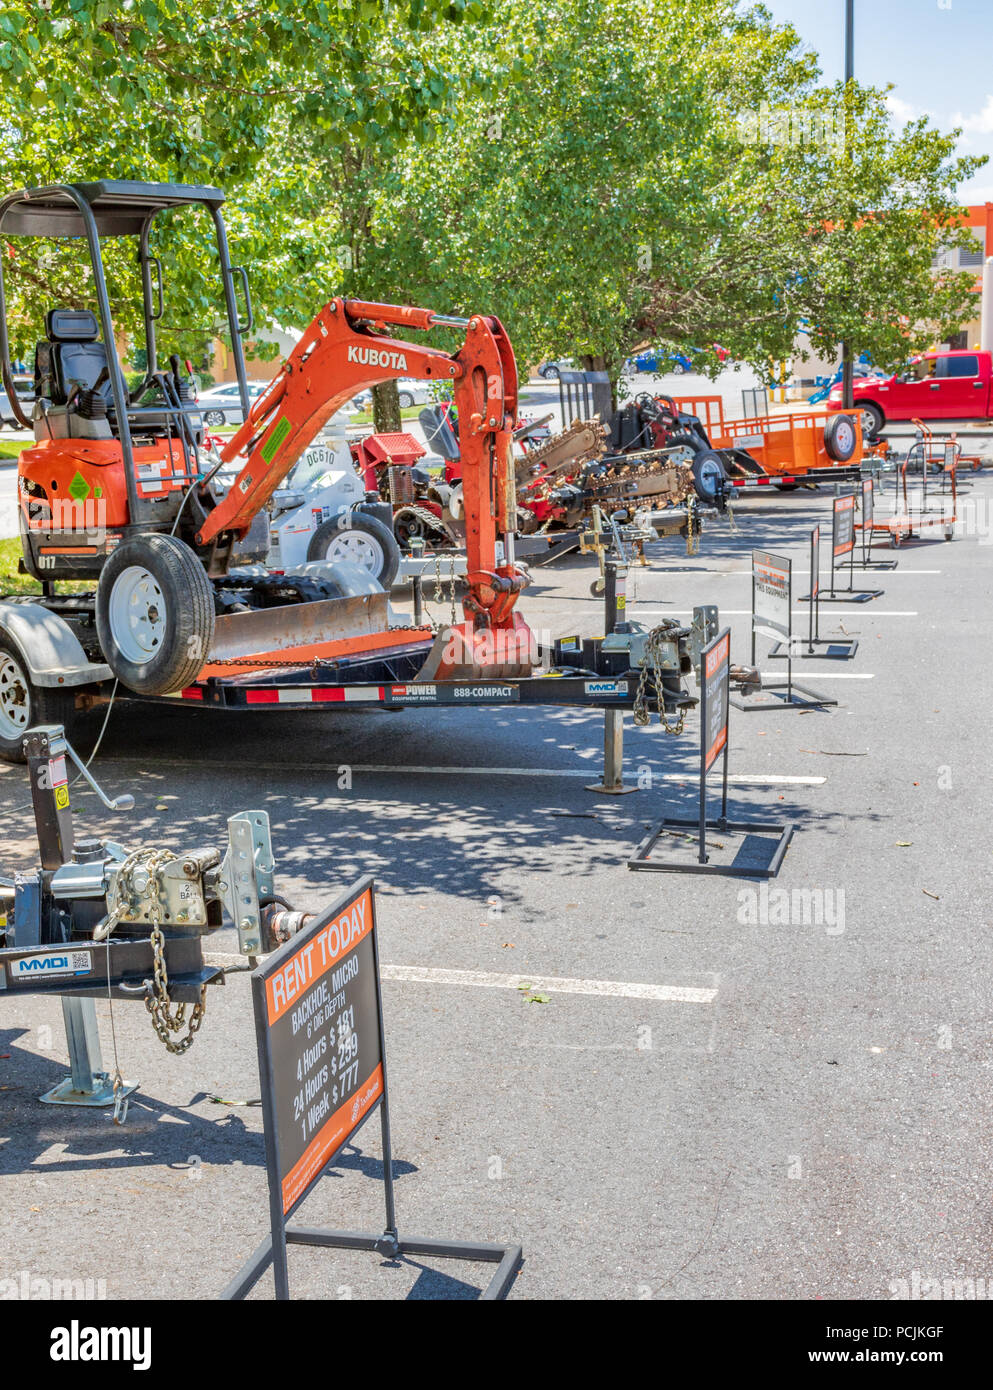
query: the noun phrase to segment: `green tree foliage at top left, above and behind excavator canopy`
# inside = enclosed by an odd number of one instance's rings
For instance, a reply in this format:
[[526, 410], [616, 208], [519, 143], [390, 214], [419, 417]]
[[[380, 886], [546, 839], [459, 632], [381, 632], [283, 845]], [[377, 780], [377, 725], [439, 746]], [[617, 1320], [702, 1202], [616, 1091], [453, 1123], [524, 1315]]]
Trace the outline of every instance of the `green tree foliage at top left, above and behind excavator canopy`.
[[[225, 188], [260, 322], [306, 322], [320, 299], [305, 306], [302, 291], [320, 274], [328, 296], [328, 256], [298, 143], [424, 139], [453, 92], [430, 36], [481, 14], [478, 0], [15, 0], [0, 14], [7, 186], [117, 177]], [[178, 217], [163, 218], [156, 235], [171, 268], [168, 348], [200, 350], [223, 322], [209, 224], [184, 236]], [[108, 278], [115, 320], [138, 334], [131, 250], [108, 246]], [[14, 252], [8, 309], [26, 352], [45, 309], [89, 293], [78, 247]]]

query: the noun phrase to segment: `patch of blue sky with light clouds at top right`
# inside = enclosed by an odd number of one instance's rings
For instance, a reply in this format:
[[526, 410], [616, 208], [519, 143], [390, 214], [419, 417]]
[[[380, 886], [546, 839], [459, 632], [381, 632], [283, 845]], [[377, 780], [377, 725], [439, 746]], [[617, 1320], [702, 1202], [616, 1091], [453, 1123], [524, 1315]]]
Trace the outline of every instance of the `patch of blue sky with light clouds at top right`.
[[[826, 82], [844, 76], [844, 0], [765, 0], [819, 54]], [[962, 128], [961, 154], [993, 156], [993, 0], [855, 0], [855, 78], [893, 83], [897, 122], [928, 114]], [[993, 202], [993, 158], [964, 203]]]

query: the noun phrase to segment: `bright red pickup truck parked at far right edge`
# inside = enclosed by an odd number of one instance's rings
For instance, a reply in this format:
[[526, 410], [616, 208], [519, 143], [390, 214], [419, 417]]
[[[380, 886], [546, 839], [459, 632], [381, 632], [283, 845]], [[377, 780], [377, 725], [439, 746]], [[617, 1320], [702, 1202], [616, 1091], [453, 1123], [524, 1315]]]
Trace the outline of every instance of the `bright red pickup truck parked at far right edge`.
[[[887, 420], [993, 418], [993, 360], [987, 352], [928, 352], [894, 377], [859, 377], [855, 406], [862, 411], [862, 435], [871, 439]], [[834, 386], [828, 406], [841, 403]]]

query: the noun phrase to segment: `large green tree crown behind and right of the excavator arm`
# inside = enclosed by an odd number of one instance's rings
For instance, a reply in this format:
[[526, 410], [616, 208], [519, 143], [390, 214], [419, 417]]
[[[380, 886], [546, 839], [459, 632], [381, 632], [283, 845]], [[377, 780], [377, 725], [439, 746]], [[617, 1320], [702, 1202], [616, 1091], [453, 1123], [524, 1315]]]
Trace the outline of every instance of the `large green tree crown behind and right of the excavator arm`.
[[716, 371], [722, 343], [768, 374], [801, 320], [883, 361], [968, 316], [971, 278], [930, 260], [978, 161], [926, 122], [894, 132], [882, 92], [818, 88], [766, 11], [538, 0], [491, 33], [509, 79], [463, 101], [442, 154], [388, 171], [377, 245], [420, 254], [423, 300], [501, 314], [524, 361], [616, 379], [648, 341]]

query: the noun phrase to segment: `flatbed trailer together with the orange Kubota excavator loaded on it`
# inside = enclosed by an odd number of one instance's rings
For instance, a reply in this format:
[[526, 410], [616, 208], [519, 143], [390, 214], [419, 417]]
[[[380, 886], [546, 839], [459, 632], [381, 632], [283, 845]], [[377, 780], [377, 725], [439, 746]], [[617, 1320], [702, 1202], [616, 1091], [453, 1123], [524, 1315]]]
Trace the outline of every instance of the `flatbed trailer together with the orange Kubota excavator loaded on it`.
[[[115, 691], [128, 699], [199, 705], [395, 705], [458, 703], [474, 691], [503, 702], [560, 687], [552, 703], [566, 692], [584, 703], [605, 680], [620, 682], [606, 694], [623, 699], [630, 673], [643, 696], [659, 692], [661, 713], [693, 703], [683, 677], [693, 669], [702, 620], [695, 628], [669, 624], [644, 641], [626, 634], [620, 652], [612, 651], [619, 638], [608, 630], [602, 646], [570, 660], [559, 648], [551, 656], [541, 652], [517, 610], [528, 584], [515, 557], [517, 367], [499, 320], [332, 299], [249, 403], [242, 352], [242, 336], [252, 331], [248, 275], [231, 264], [223, 202], [218, 189], [118, 181], [0, 199], [7, 239], [82, 239], [96, 304], [96, 313], [47, 311], [35, 352], [31, 418], [13, 402], [35, 435], [18, 461], [18, 518], [22, 566], [42, 595], [0, 603], [0, 758], [19, 760], [26, 730], [72, 724], [79, 709]], [[163, 275], [153, 225], [186, 207], [206, 210], [214, 227], [245, 410], [245, 423], [220, 443], [203, 430], [189, 364], [184, 375], [171, 356], [164, 371], [156, 356]], [[106, 238], [136, 242], [147, 373], [134, 392], [114, 350]], [[19, 263], [11, 264], [17, 270]], [[10, 389], [7, 274], [0, 259], [0, 366]], [[441, 352], [392, 338], [394, 325], [458, 328], [465, 342], [455, 353]], [[357, 392], [401, 377], [446, 382], [458, 409], [465, 617], [453, 610], [437, 631], [396, 621], [377, 580], [348, 562], [284, 574], [243, 569], [264, 557], [267, 507], [323, 425]], [[220, 491], [224, 470], [235, 477]], [[61, 580], [90, 580], [95, 589], [57, 594]], [[545, 676], [533, 677], [549, 662]], [[560, 685], [560, 678], [572, 684]], [[423, 692], [401, 694], [420, 685]]]

